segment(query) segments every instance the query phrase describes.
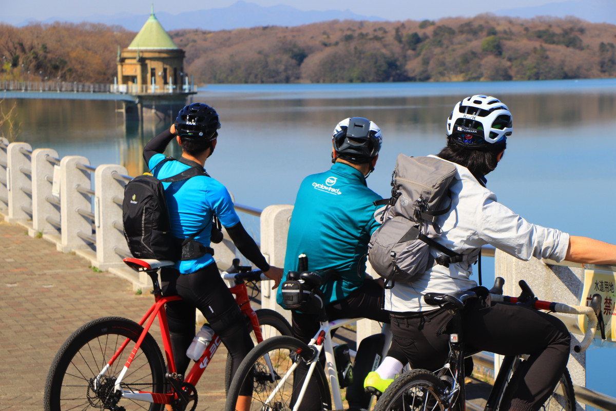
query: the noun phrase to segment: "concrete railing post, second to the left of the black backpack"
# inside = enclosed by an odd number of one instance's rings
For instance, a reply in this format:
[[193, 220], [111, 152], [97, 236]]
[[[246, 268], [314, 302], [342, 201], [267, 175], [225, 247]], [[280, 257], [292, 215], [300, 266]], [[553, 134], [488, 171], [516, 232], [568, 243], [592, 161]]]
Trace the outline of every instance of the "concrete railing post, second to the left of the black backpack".
[[79, 211], [92, 210], [91, 197], [78, 191], [80, 187], [91, 187], [91, 173], [77, 168], [77, 165], [90, 165], [90, 161], [77, 155], [64, 157], [60, 161], [62, 243], [57, 245], [57, 249], [64, 253], [89, 248], [78, 234], [92, 235], [92, 221], [79, 214]]

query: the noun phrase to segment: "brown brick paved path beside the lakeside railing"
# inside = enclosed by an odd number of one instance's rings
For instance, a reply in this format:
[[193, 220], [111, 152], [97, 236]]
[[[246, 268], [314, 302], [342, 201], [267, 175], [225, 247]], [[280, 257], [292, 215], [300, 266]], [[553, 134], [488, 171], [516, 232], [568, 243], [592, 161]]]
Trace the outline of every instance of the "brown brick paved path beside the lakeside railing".
[[[152, 296], [137, 296], [125, 280], [88, 265], [0, 221], [0, 411], [43, 409], [51, 362], [76, 328], [107, 315], [139, 321], [152, 304]], [[201, 378], [199, 410], [223, 409], [226, 357], [221, 347]]]

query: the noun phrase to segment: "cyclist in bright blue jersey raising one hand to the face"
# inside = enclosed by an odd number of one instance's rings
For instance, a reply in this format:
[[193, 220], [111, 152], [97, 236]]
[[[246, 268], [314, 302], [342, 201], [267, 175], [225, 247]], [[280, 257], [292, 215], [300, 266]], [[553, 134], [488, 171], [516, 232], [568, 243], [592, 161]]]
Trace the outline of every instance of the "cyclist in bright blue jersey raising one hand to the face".
[[[175, 123], [144, 147], [144, 158], [158, 179], [182, 173], [191, 167], [205, 165], [214, 152], [218, 129], [218, 114], [206, 104], [193, 103], [180, 110]], [[179, 160], [166, 160], [164, 150], [176, 139], [182, 147]], [[163, 182], [169, 208], [172, 233], [185, 239], [196, 234], [182, 248], [182, 260], [174, 268], [164, 267], [161, 282], [164, 295], [179, 295], [180, 301], [166, 304], [166, 314], [171, 334], [171, 346], [176, 359], [177, 372], [184, 373], [190, 363], [186, 350], [195, 336], [195, 308], [221, 336], [233, 358], [235, 374], [241, 360], [253, 348], [253, 341], [246, 328], [240, 307], [219, 274], [209, 248], [213, 216], [216, 216], [238, 250], [267, 277], [280, 283], [282, 269], [267, 264], [253, 238], [246, 233], [233, 208], [227, 189], [212, 177], [199, 175], [181, 182]], [[237, 409], [248, 409], [252, 385], [242, 388]]]

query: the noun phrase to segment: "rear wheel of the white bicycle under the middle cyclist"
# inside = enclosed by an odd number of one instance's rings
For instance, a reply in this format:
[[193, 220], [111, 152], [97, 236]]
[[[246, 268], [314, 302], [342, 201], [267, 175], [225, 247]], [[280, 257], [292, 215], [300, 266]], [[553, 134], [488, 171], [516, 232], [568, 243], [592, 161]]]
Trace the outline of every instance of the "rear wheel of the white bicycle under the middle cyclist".
[[[267, 365], [266, 354], [274, 368], [273, 377]], [[264, 340], [248, 353], [233, 376], [225, 411], [235, 410], [240, 388], [245, 380], [252, 380], [253, 383], [251, 410], [289, 411], [293, 409], [295, 396], [299, 393], [299, 388], [294, 390], [293, 387], [301, 387], [306, 376], [304, 373], [306, 361], [312, 359], [312, 356], [313, 350], [297, 338], [275, 336]], [[291, 366], [296, 363], [303, 368], [289, 373], [284, 380]], [[311, 394], [304, 396], [304, 401], [317, 404], [314, 409], [310, 407], [311, 411], [331, 409], [330, 388], [319, 362], [315, 365], [309, 382], [309, 390]], [[269, 397], [272, 398], [267, 401]]]

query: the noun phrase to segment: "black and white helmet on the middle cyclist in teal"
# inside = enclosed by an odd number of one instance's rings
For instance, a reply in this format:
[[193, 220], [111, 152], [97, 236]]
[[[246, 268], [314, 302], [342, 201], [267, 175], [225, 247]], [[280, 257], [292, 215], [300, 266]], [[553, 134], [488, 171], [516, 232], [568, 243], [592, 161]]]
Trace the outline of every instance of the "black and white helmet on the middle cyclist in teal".
[[[336, 156], [355, 164], [368, 163], [381, 150], [381, 129], [363, 117], [346, 118], [334, 128], [332, 143]], [[332, 160], [335, 161], [335, 160]]]

